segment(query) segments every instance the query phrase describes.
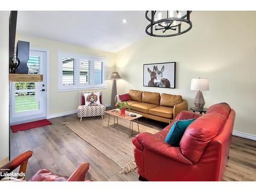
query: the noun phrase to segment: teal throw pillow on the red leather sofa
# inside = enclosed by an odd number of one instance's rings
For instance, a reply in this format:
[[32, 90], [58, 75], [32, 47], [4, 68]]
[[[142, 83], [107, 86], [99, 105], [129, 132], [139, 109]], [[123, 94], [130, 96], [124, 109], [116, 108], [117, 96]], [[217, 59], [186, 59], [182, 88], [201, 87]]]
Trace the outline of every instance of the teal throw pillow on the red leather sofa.
[[187, 129], [187, 126], [195, 121], [195, 119], [186, 119], [186, 120], [177, 120], [173, 124], [173, 126], [170, 128], [169, 133], [167, 134], [165, 138], [165, 142], [169, 143], [173, 146], [179, 146], [180, 140]]

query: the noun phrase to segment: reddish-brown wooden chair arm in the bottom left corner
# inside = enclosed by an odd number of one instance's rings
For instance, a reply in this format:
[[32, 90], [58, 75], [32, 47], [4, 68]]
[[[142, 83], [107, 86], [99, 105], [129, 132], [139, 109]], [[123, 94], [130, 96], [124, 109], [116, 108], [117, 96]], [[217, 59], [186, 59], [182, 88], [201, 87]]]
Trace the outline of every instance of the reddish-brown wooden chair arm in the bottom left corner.
[[[17, 157], [13, 158], [11, 161], [6, 163], [1, 167], [0, 172], [2, 173], [11, 173], [15, 168], [17, 168], [19, 165], [19, 173], [26, 173], [27, 164], [29, 158], [32, 156], [32, 151], [26, 151], [22, 154], [19, 154]], [[2, 174], [3, 175], [3, 174]], [[0, 176], [0, 180], [3, 179], [4, 176]], [[22, 177], [17, 177], [18, 179]]]

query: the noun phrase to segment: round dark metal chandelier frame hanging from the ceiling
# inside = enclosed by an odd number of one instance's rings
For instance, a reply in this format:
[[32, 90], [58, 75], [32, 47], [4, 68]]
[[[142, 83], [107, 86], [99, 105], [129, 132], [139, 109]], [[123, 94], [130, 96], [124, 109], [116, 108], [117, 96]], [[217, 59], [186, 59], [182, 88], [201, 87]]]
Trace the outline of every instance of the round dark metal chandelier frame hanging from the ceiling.
[[[167, 16], [166, 18], [154, 21], [155, 18], [155, 14], [157, 11], [151, 11], [151, 18], [148, 16], [148, 13], [150, 11], [146, 11], [145, 13], [145, 17], [148, 21], [150, 21], [150, 25], [146, 26], [146, 34], [154, 36], [154, 37], [172, 37], [172, 36], [177, 36], [177, 35], [181, 35], [183, 33], [188, 32], [191, 28], [192, 28], [192, 23], [190, 21], [190, 13], [192, 11], [187, 11], [187, 13], [182, 16], [181, 18], [178, 17], [168, 17], [168, 11], [167, 12]], [[179, 13], [179, 11], [176, 11], [177, 13]], [[175, 26], [171, 26], [173, 24], [174, 21], [180, 22], [180, 24], [175, 25]], [[162, 23], [165, 22], [166, 26], [162, 25]], [[189, 25], [189, 27], [186, 30], [181, 29], [181, 24], [182, 22], [187, 23]], [[154, 26], [159, 26], [160, 28], [156, 28], [155, 31], [157, 30], [162, 30], [163, 31], [163, 35], [159, 35], [159, 34], [154, 34]], [[178, 28], [178, 29], [177, 29]], [[150, 29], [150, 31], [148, 31], [148, 29]], [[173, 30], [173, 31], [177, 31], [177, 33], [174, 34], [168, 34], [165, 35], [164, 32], [167, 30]]]

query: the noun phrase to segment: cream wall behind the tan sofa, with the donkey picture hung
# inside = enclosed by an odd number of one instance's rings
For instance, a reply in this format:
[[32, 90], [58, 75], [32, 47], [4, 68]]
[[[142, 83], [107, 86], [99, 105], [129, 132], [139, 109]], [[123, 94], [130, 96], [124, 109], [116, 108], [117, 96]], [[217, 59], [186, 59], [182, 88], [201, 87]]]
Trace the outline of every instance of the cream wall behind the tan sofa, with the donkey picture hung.
[[[146, 37], [116, 54], [118, 93], [129, 89], [180, 94], [193, 105], [191, 78], [209, 78], [206, 107], [227, 102], [234, 131], [256, 135], [256, 12], [191, 13], [193, 28], [180, 36]], [[176, 61], [176, 89], [143, 87], [143, 64]]]

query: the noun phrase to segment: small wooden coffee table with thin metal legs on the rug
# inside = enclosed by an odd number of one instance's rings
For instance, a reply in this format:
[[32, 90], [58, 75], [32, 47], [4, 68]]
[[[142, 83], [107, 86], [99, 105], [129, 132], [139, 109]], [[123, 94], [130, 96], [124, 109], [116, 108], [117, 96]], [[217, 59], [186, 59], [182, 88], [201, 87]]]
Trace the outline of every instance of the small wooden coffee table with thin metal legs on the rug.
[[[132, 135], [130, 137], [132, 137], [134, 135], [133, 134], [133, 121], [137, 119], [138, 132], [140, 133], [138, 118], [143, 117], [143, 115], [133, 113], [133, 112], [129, 112], [129, 111], [125, 111], [125, 115], [121, 115], [121, 112], [120, 112], [119, 109], [109, 110], [109, 111], [106, 111], [106, 113], [109, 114], [108, 128], [109, 128], [109, 125], [110, 125], [110, 116], [114, 117], [114, 127], [116, 125], [118, 125], [118, 117], [122, 118], [122, 119], [129, 120], [130, 121], [130, 130], [132, 130]], [[131, 117], [130, 116], [131, 114], [136, 115], [136, 117]], [[116, 123], [116, 121], [117, 121], [117, 123]], [[131, 129], [131, 126], [132, 126], [132, 129]]]

